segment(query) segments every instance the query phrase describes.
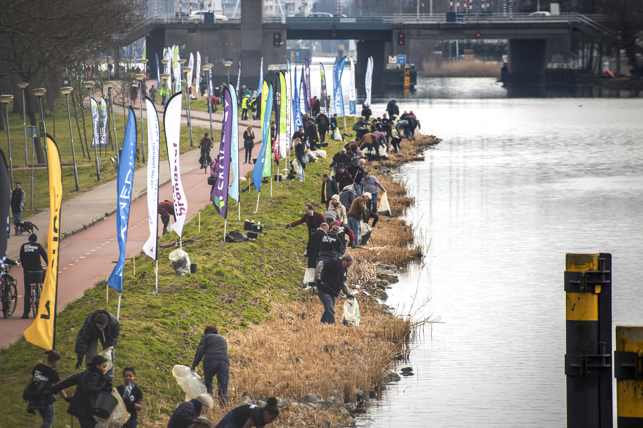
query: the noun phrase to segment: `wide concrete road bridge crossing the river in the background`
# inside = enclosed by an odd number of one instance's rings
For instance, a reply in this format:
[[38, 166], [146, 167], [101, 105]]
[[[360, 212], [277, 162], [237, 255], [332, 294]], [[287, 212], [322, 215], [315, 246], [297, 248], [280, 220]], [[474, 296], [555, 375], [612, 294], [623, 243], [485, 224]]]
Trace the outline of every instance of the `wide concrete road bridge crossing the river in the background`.
[[[528, 87], [544, 85], [548, 63], [567, 68], [574, 62], [575, 37], [586, 35], [608, 43], [617, 42], [617, 36], [600, 23], [610, 19], [604, 15], [561, 13], [532, 17], [517, 13], [453, 13], [264, 17], [263, 0], [241, 0], [240, 3], [240, 19], [228, 21], [197, 22], [167, 15], [147, 17], [138, 22], [123, 44], [147, 37], [147, 55], [152, 60], [154, 53], [160, 54], [163, 47], [185, 43], [186, 51], [198, 50], [203, 57], [210, 56], [215, 64], [212, 69], [215, 82], [227, 79], [222, 62], [233, 60], [234, 69], [241, 55], [242, 84], [254, 87], [258, 83], [262, 56], [264, 75], [269, 64], [284, 64], [287, 39], [358, 40], [358, 91], [363, 92], [366, 58], [373, 56], [373, 89], [378, 96], [388, 56], [408, 55], [412, 39], [507, 39], [509, 63], [503, 75], [505, 84]], [[276, 34], [280, 35], [280, 44], [275, 44]], [[404, 44], [399, 44], [401, 35]], [[150, 73], [156, 74], [156, 67], [152, 67]]]

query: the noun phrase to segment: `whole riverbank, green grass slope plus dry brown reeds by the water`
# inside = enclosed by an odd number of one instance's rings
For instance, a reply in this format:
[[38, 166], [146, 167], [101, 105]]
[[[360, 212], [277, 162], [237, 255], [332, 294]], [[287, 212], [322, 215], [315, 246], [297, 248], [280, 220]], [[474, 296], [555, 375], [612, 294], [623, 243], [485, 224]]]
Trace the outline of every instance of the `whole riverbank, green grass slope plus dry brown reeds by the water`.
[[[374, 174], [379, 171], [378, 178], [388, 190], [394, 212], [403, 211], [412, 200], [406, 196], [401, 182], [396, 185], [388, 181], [392, 180], [385, 172], [390, 168], [388, 163], [419, 159], [417, 150], [433, 142], [436, 141], [430, 137], [415, 143], [403, 142], [404, 153], [368, 165]], [[305, 182], [285, 181], [273, 186], [272, 201], [264, 187], [258, 214], [252, 214], [257, 193], [242, 193], [242, 219], [278, 225], [300, 218], [303, 203], [318, 203], [320, 175], [329, 171], [327, 165], [332, 154], [341, 145], [332, 142], [327, 148], [327, 159], [307, 166]], [[231, 212], [235, 212], [237, 206], [234, 201], [230, 202]], [[139, 426], [167, 424], [168, 415], [185, 397], [172, 377], [171, 368], [174, 364], [190, 364], [203, 328], [210, 324], [217, 325], [228, 339], [230, 407], [246, 395], [252, 400], [288, 397], [299, 403], [307, 393], [316, 393], [325, 400], [337, 390], [341, 401], [356, 403], [359, 394], [356, 388], [365, 393], [380, 391], [386, 381], [383, 370], [390, 367], [404, 340], [412, 334], [413, 321], [391, 316], [372, 298], [369, 290], [377, 282], [372, 275], [374, 263], [390, 261], [395, 253], [398, 257], [395, 261], [404, 262], [422, 252], [412, 242], [410, 226], [396, 218], [382, 216], [380, 221], [385, 223], [374, 229], [373, 242], [388, 248], [388, 252], [355, 250], [360, 260], [350, 270], [350, 287], [360, 292], [362, 321], [359, 327], [320, 325], [319, 300], [300, 287], [306, 263], [302, 253], [307, 232], [303, 227], [269, 228], [257, 241], [221, 244], [223, 219], [208, 205], [201, 211], [201, 230], [197, 217], [184, 228], [185, 239], [202, 237], [184, 246], [191, 261], [198, 263], [196, 274], [177, 276], [167, 258], [174, 249], [160, 250], [159, 294], [152, 295], [154, 262], [146, 255], [136, 256], [136, 274], [132, 262], [128, 262], [123, 275], [122, 332], [116, 349], [116, 367], [117, 372], [127, 365], [137, 369], [136, 383], [145, 395]], [[228, 232], [241, 229], [234, 218], [228, 221]], [[398, 230], [404, 234], [398, 235]], [[160, 241], [165, 243], [174, 238], [176, 236], [166, 235]], [[374, 245], [368, 248], [375, 248]], [[117, 295], [113, 290], [110, 293], [107, 303], [105, 281], [98, 282], [60, 312], [57, 349], [63, 355], [58, 369], [61, 378], [77, 372], [74, 343], [87, 314], [100, 308], [116, 313]], [[343, 311], [342, 303], [338, 300], [338, 318]], [[5, 409], [0, 427], [39, 424], [38, 416], [25, 413], [26, 406], [20, 397], [28, 373], [42, 357], [41, 348], [24, 339], [0, 352], [4, 373], [0, 385], [5, 391], [0, 398], [0, 406]], [[217, 408], [208, 416], [218, 420], [230, 407]], [[62, 401], [57, 404], [55, 428], [69, 424], [66, 408]], [[348, 415], [340, 413], [340, 407], [313, 409], [291, 402], [283, 409], [273, 424], [277, 427], [293, 425], [296, 419], [313, 427], [325, 426], [325, 420], [350, 422]]]

